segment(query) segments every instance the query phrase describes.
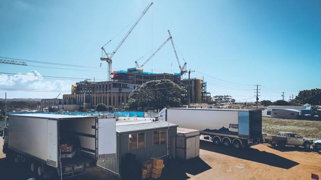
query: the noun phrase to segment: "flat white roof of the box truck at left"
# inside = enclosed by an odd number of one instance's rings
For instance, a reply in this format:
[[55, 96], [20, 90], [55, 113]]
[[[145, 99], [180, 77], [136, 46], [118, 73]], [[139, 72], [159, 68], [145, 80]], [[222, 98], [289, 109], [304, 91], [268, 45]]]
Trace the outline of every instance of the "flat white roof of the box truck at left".
[[41, 118], [50, 120], [71, 119], [71, 118], [94, 118], [94, 116], [80, 116], [80, 115], [57, 115], [57, 114], [15, 114], [9, 116]]

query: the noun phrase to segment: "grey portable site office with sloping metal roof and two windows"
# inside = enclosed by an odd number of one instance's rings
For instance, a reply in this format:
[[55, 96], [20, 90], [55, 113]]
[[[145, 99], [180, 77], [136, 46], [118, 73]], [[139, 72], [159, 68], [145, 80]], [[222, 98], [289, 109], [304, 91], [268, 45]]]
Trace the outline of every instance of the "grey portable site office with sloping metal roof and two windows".
[[166, 121], [122, 125], [117, 122], [116, 158], [98, 160], [98, 167], [121, 178], [121, 162], [127, 153], [135, 154], [139, 162], [148, 161], [151, 157], [164, 160], [167, 156], [174, 157], [177, 126]]

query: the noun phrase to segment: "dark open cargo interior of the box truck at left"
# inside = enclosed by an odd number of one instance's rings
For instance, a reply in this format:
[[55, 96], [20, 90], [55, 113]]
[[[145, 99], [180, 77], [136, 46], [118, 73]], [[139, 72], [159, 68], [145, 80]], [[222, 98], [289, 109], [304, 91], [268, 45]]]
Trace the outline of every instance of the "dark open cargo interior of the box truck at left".
[[71, 119], [59, 122], [59, 148], [64, 178], [86, 173], [96, 165], [96, 121]]

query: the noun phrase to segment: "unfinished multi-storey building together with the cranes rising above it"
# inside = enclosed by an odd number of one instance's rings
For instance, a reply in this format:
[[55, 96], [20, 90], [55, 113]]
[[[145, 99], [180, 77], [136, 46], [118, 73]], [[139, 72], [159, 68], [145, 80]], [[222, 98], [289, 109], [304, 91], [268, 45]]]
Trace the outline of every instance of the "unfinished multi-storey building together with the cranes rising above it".
[[[64, 94], [63, 99], [75, 100], [75, 104], [80, 106], [80, 110], [90, 110], [97, 106], [97, 104], [104, 103], [108, 106], [109, 110], [115, 110], [124, 108], [128, 101], [129, 93], [137, 87], [140, 87], [143, 83], [153, 80], [170, 80], [180, 87], [184, 88], [187, 93], [181, 99], [183, 105], [189, 105], [190, 103], [209, 103], [211, 96], [209, 92], [206, 92], [206, 82], [203, 79], [191, 78], [191, 70], [187, 70], [187, 62], [184, 60], [181, 65], [179, 56], [177, 54], [173, 37], [171, 32], [167, 30], [168, 38], [141, 64], [138, 63], [138, 59], [135, 61], [135, 67], [128, 67], [124, 70], [113, 71], [113, 57], [120, 49], [121, 45], [125, 43], [128, 36], [139, 24], [139, 21], [143, 18], [149, 8], [153, 5], [151, 2], [134, 22], [131, 28], [127, 31], [125, 36], [121, 39], [119, 44], [113, 51], [107, 51], [105, 46], [109, 44], [108, 41], [101, 47], [100, 61], [107, 62], [107, 80], [102, 82], [95, 82], [94, 80], [85, 80], [71, 87], [71, 94]], [[153, 73], [144, 71], [144, 66], [154, 56], [161, 51], [162, 47], [170, 41], [175, 59], [178, 64], [178, 73]], [[117, 61], [116, 61], [117, 62]], [[168, 62], [169, 63], [169, 62]], [[192, 71], [193, 72], [193, 71]], [[183, 79], [183, 75], [188, 73], [188, 78]], [[45, 101], [45, 100], [44, 100]], [[46, 104], [43, 102], [43, 104]], [[44, 106], [43, 106], [44, 108]], [[58, 108], [59, 109], [59, 108]]]

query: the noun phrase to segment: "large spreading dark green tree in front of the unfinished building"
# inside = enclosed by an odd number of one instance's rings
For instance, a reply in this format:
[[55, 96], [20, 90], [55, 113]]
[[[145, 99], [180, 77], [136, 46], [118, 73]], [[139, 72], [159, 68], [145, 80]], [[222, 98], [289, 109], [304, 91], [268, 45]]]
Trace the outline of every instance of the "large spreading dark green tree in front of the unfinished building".
[[129, 109], [162, 109], [180, 107], [186, 90], [170, 80], [154, 80], [143, 83], [129, 94]]

